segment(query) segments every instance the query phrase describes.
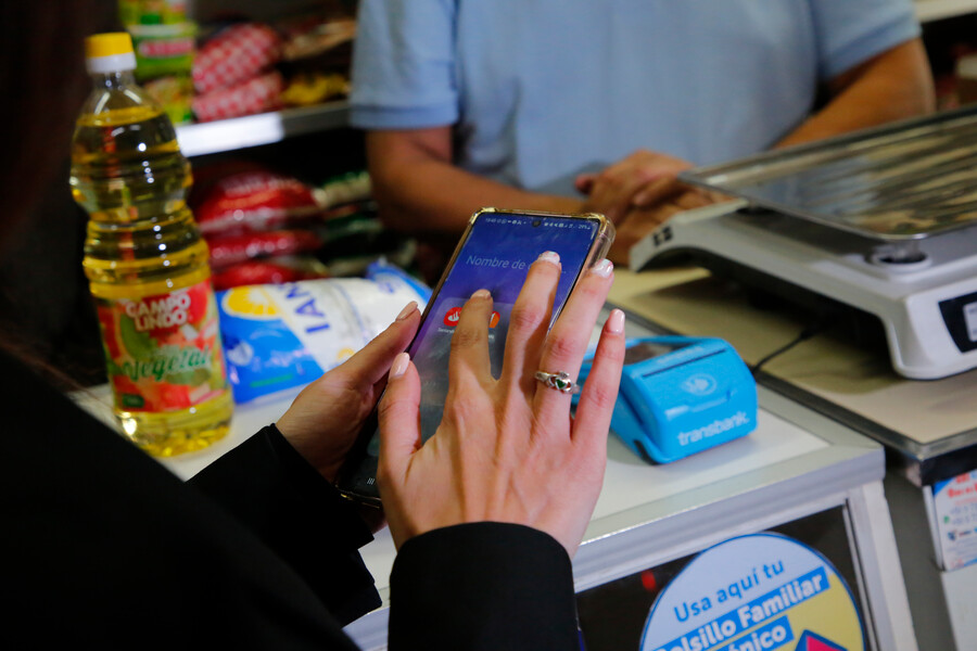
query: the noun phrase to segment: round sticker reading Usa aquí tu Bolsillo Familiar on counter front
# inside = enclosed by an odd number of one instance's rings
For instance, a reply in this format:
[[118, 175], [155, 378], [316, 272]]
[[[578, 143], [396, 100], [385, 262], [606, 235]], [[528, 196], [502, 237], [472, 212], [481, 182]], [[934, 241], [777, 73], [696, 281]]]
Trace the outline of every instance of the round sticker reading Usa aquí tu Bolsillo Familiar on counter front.
[[779, 534], [696, 557], [658, 596], [643, 651], [863, 651], [851, 590], [821, 553]]

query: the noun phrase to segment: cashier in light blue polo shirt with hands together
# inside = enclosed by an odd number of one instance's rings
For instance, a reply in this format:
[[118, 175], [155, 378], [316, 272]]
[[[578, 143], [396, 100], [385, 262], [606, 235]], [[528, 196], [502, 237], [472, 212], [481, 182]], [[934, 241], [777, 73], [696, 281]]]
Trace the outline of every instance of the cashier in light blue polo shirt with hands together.
[[595, 210], [626, 260], [713, 201], [682, 169], [930, 111], [918, 37], [911, 0], [361, 0], [352, 120], [389, 226]]

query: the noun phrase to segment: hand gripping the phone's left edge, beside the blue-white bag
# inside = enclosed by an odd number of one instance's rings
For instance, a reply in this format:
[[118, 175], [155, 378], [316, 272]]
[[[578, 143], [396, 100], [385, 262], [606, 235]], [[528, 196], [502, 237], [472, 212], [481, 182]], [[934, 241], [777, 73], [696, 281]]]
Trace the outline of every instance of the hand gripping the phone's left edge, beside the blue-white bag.
[[410, 343], [420, 311], [411, 303], [377, 339], [305, 387], [276, 425], [329, 482], [386, 385], [390, 365]]

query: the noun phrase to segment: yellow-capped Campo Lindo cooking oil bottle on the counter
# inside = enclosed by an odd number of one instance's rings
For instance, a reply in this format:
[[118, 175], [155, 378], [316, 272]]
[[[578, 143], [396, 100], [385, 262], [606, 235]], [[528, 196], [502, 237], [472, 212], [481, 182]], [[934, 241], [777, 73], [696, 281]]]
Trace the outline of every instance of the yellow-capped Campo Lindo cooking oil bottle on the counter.
[[128, 34], [86, 41], [93, 89], [72, 143], [72, 193], [89, 214], [85, 272], [115, 413], [151, 455], [223, 437], [227, 383], [207, 245], [187, 207], [192, 178], [166, 114], [136, 85]]

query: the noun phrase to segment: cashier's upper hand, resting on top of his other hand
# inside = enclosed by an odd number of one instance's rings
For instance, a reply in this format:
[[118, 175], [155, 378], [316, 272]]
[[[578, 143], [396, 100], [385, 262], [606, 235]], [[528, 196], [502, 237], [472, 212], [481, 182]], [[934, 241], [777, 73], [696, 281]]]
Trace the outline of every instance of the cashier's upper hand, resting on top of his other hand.
[[667, 202], [685, 209], [708, 205], [708, 195], [678, 180], [691, 164], [659, 152], [637, 150], [598, 174], [576, 177], [587, 195], [584, 212], [601, 213], [616, 225], [634, 209], [652, 210]]

